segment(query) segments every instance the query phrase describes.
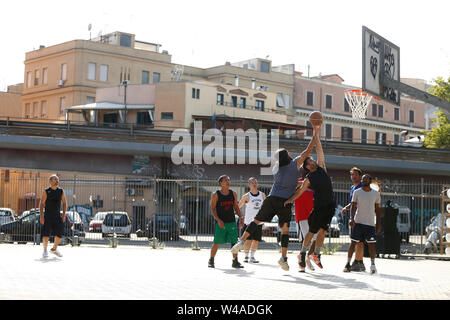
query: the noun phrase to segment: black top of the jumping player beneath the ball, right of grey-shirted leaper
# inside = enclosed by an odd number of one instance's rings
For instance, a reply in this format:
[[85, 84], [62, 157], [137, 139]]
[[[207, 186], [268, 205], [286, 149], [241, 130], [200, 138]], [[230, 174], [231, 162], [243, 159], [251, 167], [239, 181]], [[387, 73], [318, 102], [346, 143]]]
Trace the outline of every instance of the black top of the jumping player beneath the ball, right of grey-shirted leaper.
[[325, 207], [334, 202], [333, 185], [327, 172], [321, 167], [309, 173], [306, 178], [311, 183], [311, 189], [314, 190], [314, 208]]

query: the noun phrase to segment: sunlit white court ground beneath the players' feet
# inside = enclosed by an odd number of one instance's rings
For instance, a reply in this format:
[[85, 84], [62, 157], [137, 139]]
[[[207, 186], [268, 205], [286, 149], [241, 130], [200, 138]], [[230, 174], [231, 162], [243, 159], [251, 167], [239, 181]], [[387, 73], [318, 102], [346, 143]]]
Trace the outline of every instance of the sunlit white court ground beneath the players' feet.
[[[311, 300], [450, 299], [450, 262], [377, 259], [378, 274], [342, 272], [346, 253], [323, 255], [323, 270], [298, 272], [297, 254], [281, 270], [279, 253], [257, 252], [259, 264], [231, 268], [221, 249], [216, 268], [209, 250], [150, 247], [60, 248], [42, 258], [42, 246], [0, 244], [0, 299], [63, 300]], [[240, 261], [243, 253], [239, 254]], [[365, 258], [369, 270], [370, 261]], [[317, 268], [316, 268], [317, 270]], [[245, 288], [245, 290], [243, 290]]]

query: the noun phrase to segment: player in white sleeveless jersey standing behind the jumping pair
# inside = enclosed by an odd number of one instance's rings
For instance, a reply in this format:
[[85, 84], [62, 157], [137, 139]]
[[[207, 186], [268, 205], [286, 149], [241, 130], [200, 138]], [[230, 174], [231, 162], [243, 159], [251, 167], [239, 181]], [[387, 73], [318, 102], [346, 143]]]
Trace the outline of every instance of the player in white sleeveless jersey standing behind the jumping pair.
[[[261, 205], [266, 198], [266, 195], [258, 190], [258, 180], [256, 178], [248, 179], [248, 186], [250, 191], [242, 196], [241, 201], [239, 201], [239, 208], [242, 208], [245, 205], [245, 215], [244, 215], [244, 228], [245, 230], [247, 226], [253, 221], [259, 209], [261, 209]], [[255, 232], [247, 238], [244, 243], [244, 253], [245, 258], [244, 262], [250, 263], [258, 263], [259, 261], [255, 259], [256, 250], [258, 250], [259, 241], [262, 238], [262, 224], [258, 225], [258, 228]], [[250, 252], [250, 259], [249, 254]]]

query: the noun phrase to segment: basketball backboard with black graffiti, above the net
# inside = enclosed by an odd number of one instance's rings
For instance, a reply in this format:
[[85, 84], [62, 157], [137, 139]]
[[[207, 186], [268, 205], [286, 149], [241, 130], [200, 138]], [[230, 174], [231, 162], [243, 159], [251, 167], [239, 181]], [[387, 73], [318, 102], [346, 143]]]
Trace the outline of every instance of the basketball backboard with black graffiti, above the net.
[[385, 81], [400, 81], [400, 48], [365, 26], [362, 31], [362, 89], [400, 105], [400, 91]]

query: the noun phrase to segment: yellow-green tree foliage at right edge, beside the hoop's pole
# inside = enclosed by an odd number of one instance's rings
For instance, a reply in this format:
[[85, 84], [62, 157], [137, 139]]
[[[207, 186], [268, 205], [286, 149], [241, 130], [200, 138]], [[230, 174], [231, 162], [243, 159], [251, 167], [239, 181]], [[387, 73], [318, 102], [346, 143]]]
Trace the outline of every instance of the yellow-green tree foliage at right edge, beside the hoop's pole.
[[[428, 89], [428, 92], [439, 98], [450, 101], [450, 77], [445, 81], [442, 77], [433, 80], [436, 85]], [[423, 145], [426, 148], [450, 149], [450, 122], [442, 112], [435, 113], [437, 118], [433, 119], [434, 126], [431, 131], [423, 131], [425, 140]]]

